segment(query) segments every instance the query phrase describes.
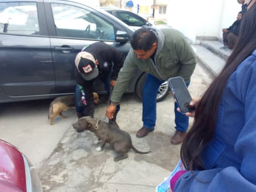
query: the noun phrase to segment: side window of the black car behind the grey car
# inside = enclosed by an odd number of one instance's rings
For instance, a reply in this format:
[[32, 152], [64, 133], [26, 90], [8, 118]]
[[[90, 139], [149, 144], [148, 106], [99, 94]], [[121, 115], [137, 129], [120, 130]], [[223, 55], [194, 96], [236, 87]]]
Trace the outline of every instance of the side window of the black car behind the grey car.
[[140, 27], [145, 25], [145, 22], [132, 12], [116, 11], [116, 17], [130, 26]]

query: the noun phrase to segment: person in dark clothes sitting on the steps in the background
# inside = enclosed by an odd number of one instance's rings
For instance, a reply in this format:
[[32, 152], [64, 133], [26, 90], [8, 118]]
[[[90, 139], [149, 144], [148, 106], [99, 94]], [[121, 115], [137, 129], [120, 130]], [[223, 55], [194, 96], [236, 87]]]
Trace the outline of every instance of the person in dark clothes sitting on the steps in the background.
[[242, 19], [242, 12], [240, 11], [237, 14], [237, 20], [229, 27], [222, 29], [222, 37], [223, 37], [223, 44], [224, 47], [221, 47], [223, 49], [233, 49], [235, 46], [235, 43], [237, 42], [238, 34], [239, 34], [239, 27], [240, 27], [240, 21]]

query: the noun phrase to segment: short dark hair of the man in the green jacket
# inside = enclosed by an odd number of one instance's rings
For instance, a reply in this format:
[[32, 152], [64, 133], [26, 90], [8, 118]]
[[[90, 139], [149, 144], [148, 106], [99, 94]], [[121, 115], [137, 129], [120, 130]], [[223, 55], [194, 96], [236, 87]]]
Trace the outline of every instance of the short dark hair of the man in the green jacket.
[[130, 39], [130, 45], [134, 50], [144, 50], [147, 52], [152, 48], [153, 43], [157, 42], [156, 33], [155, 29], [149, 27], [135, 30]]

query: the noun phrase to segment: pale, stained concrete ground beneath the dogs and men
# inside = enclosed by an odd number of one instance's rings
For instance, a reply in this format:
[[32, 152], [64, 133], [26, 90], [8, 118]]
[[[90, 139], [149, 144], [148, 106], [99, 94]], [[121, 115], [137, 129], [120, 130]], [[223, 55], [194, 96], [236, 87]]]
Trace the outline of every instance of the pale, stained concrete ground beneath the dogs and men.
[[[217, 45], [216, 45], [217, 43]], [[221, 47], [219, 42], [211, 42]], [[191, 96], [199, 97], [224, 62], [204, 47], [193, 45], [198, 59], [189, 87]], [[205, 67], [207, 70], [205, 70]], [[104, 96], [101, 96], [104, 101]], [[139, 139], [135, 133], [142, 127], [142, 102], [136, 94], [125, 94], [117, 122], [132, 137], [134, 146], [151, 152], [137, 154], [114, 162], [114, 151], [106, 146], [102, 152], [94, 149], [94, 135], [77, 133], [71, 126], [76, 121], [75, 110], [64, 112], [67, 119], [56, 117], [49, 125], [48, 106], [52, 99], [0, 104], [1, 139], [16, 145], [34, 163], [45, 192], [48, 191], [155, 191], [155, 186], [170, 175], [179, 160], [180, 145], [171, 145], [175, 132], [173, 98], [169, 95], [157, 103], [155, 131]], [[96, 106], [95, 117], [104, 119], [107, 104]], [[190, 125], [193, 118], [190, 119]]]

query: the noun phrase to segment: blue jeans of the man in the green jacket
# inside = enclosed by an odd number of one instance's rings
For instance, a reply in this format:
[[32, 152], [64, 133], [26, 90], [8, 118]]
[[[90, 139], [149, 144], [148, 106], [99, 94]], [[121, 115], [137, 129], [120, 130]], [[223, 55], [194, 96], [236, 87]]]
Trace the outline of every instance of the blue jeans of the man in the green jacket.
[[[147, 129], [154, 129], [155, 121], [157, 119], [157, 93], [159, 86], [164, 81], [160, 81], [155, 76], [148, 75], [143, 88], [143, 109], [142, 109], [142, 121], [143, 126]], [[187, 83], [188, 86], [190, 82]], [[176, 109], [178, 104], [175, 103], [175, 129], [181, 132], [186, 132], [188, 129], [188, 117]]]

